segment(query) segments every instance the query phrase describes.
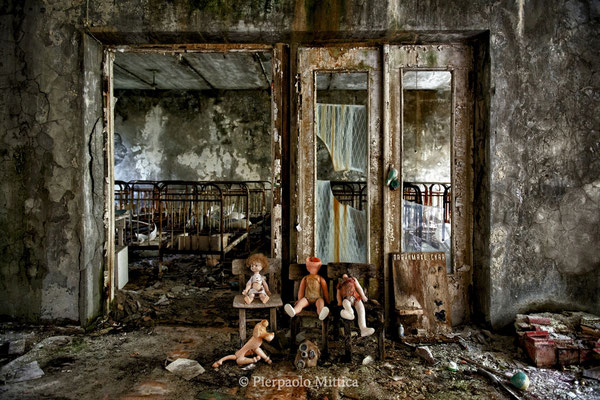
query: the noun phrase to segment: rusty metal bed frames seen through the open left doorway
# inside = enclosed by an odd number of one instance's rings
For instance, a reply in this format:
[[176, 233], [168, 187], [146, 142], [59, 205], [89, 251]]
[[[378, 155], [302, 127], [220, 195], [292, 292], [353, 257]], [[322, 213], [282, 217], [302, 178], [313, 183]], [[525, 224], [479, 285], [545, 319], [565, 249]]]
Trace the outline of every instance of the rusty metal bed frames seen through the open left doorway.
[[221, 259], [270, 234], [268, 181], [115, 181], [117, 246]]

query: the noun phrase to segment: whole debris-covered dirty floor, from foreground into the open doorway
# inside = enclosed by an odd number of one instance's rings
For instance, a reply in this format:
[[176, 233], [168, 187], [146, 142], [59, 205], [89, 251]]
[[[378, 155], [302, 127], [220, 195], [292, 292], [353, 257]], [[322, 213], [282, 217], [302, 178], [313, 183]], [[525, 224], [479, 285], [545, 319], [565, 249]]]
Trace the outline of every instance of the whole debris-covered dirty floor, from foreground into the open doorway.
[[[289, 331], [283, 326], [263, 346], [273, 364], [259, 361], [241, 368], [227, 361], [215, 370], [213, 362], [238, 349], [237, 313], [230, 306], [239, 290], [235, 279], [226, 268], [209, 269], [193, 258], [173, 258], [162, 270], [153, 263], [132, 263], [131, 283], [119, 294], [110, 317], [92, 331], [0, 324], [0, 366], [36, 361], [43, 371], [37, 379], [1, 384], [0, 398], [514, 398], [478, 373], [478, 364], [505, 378], [524, 371], [531, 385], [527, 391], [512, 388], [518, 398], [600, 399], [600, 382], [582, 377], [581, 367], [535, 368], [513, 335], [473, 326], [449, 335], [407, 339], [410, 343], [386, 339], [384, 360], [368, 358], [377, 354], [374, 337], [353, 337], [351, 363], [341, 362], [342, 340], [330, 341], [329, 359], [302, 371], [292, 366]], [[287, 317], [279, 318], [285, 325]], [[305, 336], [319, 338], [311, 330]], [[416, 354], [417, 345], [429, 347], [434, 364]], [[176, 358], [196, 360], [205, 372], [183, 379], [165, 369]], [[450, 361], [457, 363], [457, 371], [448, 368]]]

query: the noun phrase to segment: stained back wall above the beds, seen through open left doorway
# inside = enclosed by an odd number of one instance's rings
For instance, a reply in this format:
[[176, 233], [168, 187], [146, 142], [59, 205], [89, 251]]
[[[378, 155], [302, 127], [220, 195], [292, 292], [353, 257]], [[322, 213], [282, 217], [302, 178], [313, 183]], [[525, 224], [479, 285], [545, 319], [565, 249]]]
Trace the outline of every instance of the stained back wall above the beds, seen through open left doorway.
[[115, 97], [115, 179], [271, 179], [266, 91], [122, 90]]

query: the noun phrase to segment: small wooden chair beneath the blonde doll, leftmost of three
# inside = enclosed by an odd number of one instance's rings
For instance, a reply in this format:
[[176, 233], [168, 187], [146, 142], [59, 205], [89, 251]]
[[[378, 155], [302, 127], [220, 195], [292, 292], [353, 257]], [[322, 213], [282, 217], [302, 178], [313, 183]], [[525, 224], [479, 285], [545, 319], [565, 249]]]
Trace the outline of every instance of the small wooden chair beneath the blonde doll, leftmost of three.
[[[281, 301], [281, 260], [276, 258], [269, 258], [269, 270], [267, 271], [267, 284], [271, 295], [269, 301], [262, 303], [257, 297], [254, 298], [252, 303], [246, 304], [244, 296], [238, 294], [233, 299], [233, 308], [237, 308], [240, 314], [240, 346], [243, 346], [246, 342], [246, 323], [247, 322], [259, 322], [264, 318], [252, 318], [246, 319], [246, 310], [264, 310], [269, 309], [270, 314], [270, 330], [273, 332], [277, 331], [277, 308], [283, 305]], [[240, 293], [243, 288], [246, 287], [246, 282], [250, 279], [252, 271], [246, 267], [245, 259], [235, 259], [231, 264], [231, 270], [233, 275], [237, 275], [240, 282]]]

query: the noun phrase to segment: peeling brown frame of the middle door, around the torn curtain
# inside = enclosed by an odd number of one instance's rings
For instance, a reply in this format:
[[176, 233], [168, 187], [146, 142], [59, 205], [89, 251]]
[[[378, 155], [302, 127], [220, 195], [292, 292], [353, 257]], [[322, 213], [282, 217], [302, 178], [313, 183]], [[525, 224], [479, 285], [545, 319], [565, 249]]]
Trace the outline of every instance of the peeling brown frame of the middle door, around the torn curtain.
[[[337, 46], [301, 47], [297, 56], [296, 95], [297, 138], [294, 149], [296, 179], [295, 259], [301, 262], [315, 250], [315, 74], [318, 72], [365, 72], [368, 74], [368, 143], [367, 175], [369, 262], [383, 265], [381, 176], [381, 59], [379, 47]], [[294, 257], [292, 257], [294, 258]], [[377, 282], [381, 285], [381, 282]], [[378, 288], [373, 288], [378, 290]]]

